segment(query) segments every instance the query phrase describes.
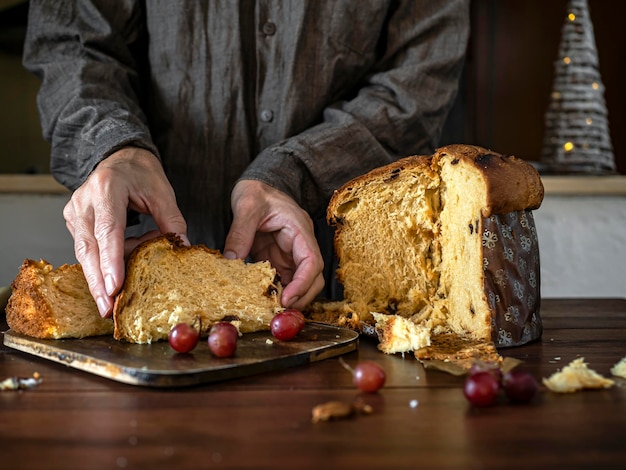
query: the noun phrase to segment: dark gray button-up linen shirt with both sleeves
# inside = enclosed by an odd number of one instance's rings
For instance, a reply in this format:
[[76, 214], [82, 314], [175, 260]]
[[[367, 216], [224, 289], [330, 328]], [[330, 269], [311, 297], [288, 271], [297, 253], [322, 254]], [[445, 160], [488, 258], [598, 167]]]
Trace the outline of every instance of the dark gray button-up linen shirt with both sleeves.
[[323, 219], [347, 180], [431, 153], [468, 35], [467, 0], [32, 0], [24, 64], [59, 182], [149, 149], [221, 248], [239, 178]]

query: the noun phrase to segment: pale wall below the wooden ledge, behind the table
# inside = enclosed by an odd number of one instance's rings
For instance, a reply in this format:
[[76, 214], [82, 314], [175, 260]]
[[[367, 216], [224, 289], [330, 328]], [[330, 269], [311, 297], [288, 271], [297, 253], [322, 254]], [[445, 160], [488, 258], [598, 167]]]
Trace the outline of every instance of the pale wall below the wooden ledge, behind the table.
[[[24, 258], [74, 263], [69, 195], [0, 194], [0, 286]], [[543, 297], [626, 298], [626, 196], [547, 195], [535, 211]]]

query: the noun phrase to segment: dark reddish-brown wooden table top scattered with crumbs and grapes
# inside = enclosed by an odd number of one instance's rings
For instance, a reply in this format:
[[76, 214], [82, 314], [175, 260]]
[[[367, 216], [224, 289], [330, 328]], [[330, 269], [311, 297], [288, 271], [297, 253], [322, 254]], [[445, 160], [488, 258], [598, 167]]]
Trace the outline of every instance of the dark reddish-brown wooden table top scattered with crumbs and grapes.
[[[540, 342], [503, 350], [538, 379], [583, 356], [597, 372], [626, 355], [626, 300], [544, 300]], [[6, 324], [3, 325], [3, 330]], [[176, 390], [125, 385], [0, 349], [0, 468], [626, 468], [626, 381], [530, 405], [475, 409], [462, 377], [361, 339], [344, 359], [374, 359], [388, 382], [362, 396], [374, 413], [313, 424], [312, 408], [359, 394], [336, 358]]]

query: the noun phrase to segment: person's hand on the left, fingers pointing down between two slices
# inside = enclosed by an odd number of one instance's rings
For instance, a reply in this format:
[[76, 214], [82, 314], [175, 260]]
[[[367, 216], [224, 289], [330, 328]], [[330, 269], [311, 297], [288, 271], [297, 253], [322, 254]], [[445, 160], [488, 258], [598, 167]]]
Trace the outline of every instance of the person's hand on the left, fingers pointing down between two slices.
[[141, 148], [125, 147], [100, 162], [63, 210], [76, 259], [103, 317], [111, 315], [124, 282], [124, 255], [159, 234], [125, 241], [129, 209], [152, 215], [160, 233], [173, 232], [187, 241], [187, 225], [161, 162]]

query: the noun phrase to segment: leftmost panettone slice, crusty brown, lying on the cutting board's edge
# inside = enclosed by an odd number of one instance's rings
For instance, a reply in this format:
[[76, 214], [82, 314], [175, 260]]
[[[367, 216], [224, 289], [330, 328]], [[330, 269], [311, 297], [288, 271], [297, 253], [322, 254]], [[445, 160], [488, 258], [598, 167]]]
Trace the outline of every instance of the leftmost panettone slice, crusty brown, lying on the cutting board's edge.
[[98, 313], [79, 264], [54, 269], [44, 260], [24, 260], [11, 283], [6, 315], [13, 331], [36, 338], [113, 333], [113, 321]]

